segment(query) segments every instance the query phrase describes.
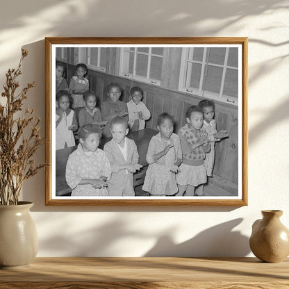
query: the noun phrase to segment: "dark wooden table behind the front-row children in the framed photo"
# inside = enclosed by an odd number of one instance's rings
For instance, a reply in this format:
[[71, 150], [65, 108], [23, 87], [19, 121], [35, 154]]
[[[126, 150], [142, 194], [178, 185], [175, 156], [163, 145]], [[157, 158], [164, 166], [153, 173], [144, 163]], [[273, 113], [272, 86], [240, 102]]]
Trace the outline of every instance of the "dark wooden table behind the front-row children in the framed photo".
[[[142, 131], [135, 131], [128, 134], [128, 138], [134, 140], [138, 147], [138, 154], [140, 155], [139, 163], [141, 165], [147, 165], [147, 161], [145, 160], [147, 148], [149, 147], [149, 141], [156, 133], [158, 132], [154, 131], [154, 129], [143, 129]], [[101, 139], [99, 148], [103, 149], [109, 140], [111, 140], [111, 138]], [[67, 147], [66, 149], [58, 149], [56, 151], [56, 196], [65, 195], [72, 191], [65, 181], [65, 167], [69, 154], [75, 151], [76, 148], [77, 146]]]

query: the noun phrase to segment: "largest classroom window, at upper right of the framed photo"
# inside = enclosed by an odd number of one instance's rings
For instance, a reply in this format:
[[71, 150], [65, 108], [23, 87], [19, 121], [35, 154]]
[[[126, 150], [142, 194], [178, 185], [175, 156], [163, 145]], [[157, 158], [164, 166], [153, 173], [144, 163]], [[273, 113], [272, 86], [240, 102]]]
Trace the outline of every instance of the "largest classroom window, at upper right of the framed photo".
[[183, 48], [179, 90], [238, 104], [238, 48]]

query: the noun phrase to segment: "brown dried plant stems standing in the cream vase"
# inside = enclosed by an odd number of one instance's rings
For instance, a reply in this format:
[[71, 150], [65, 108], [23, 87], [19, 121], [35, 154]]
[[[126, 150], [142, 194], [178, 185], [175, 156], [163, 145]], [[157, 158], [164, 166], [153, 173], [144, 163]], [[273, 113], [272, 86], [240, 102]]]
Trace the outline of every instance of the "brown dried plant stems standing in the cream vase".
[[[0, 104], [0, 204], [17, 205], [23, 182], [37, 174], [45, 164], [35, 165], [33, 154], [44, 143], [39, 133], [40, 118], [33, 116], [34, 109], [26, 108], [21, 115], [27, 92], [35, 83], [28, 83], [19, 93], [17, 77], [22, 74], [22, 56], [16, 69], [6, 73], [6, 83], [1, 96], [6, 104]], [[2, 99], [3, 100], [3, 99]], [[20, 116], [18, 116], [20, 115]]]

